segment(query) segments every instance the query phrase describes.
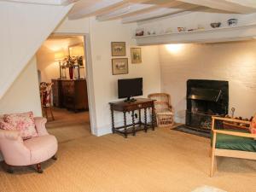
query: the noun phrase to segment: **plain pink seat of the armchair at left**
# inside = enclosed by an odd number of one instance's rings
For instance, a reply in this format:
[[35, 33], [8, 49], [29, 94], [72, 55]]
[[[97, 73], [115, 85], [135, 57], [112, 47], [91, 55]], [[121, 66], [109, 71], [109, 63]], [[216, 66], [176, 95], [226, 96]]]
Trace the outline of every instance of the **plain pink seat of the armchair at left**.
[[57, 152], [58, 143], [54, 136], [33, 137], [24, 141], [26, 148], [31, 151], [31, 164], [49, 160]]

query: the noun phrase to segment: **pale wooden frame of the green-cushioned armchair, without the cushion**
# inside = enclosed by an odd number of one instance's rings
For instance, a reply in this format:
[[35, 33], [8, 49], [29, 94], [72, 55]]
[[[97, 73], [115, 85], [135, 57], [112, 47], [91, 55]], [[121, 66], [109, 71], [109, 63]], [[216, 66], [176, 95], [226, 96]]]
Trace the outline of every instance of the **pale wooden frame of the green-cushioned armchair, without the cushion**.
[[211, 150], [211, 171], [210, 177], [213, 176], [214, 172], [214, 165], [216, 162], [216, 156], [223, 156], [223, 157], [233, 157], [233, 158], [241, 158], [241, 159], [248, 159], [248, 160], [256, 160], [256, 153], [255, 152], [247, 152], [247, 151], [240, 151], [240, 150], [229, 150], [229, 149], [220, 149], [216, 148], [216, 136], [217, 133], [230, 135], [230, 136], [238, 136], [238, 137], [248, 137], [248, 138], [256, 138], [256, 134], [251, 133], [244, 133], [244, 132], [235, 132], [235, 131], [223, 131], [223, 130], [216, 130], [215, 129], [215, 120], [223, 120], [223, 121], [230, 121], [235, 123], [241, 123], [250, 125], [250, 121], [240, 120], [240, 119], [230, 119], [230, 118], [221, 118], [221, 117], [212, 117], [212, 150]]

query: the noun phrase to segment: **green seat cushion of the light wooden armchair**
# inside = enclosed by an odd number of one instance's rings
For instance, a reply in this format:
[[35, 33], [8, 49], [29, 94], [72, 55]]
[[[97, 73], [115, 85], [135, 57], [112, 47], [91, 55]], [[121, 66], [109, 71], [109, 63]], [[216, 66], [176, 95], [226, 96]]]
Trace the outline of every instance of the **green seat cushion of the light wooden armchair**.
[[216, 148], [256, 152], [256, 141], [253, 138], [237, 137], [218, 133], [216, 137]]

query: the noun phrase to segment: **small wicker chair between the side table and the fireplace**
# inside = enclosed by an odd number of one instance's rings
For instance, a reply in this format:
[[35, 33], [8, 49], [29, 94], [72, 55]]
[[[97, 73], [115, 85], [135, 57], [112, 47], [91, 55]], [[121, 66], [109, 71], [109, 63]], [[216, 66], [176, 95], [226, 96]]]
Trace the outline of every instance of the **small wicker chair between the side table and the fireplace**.
[[154, 93], [148, 95], [148, 98], [154, 99], [154, 110], [157, 125], [160, 127], [174, 125], [173, 108], [170, 105], [170, 96], [166, 93]]

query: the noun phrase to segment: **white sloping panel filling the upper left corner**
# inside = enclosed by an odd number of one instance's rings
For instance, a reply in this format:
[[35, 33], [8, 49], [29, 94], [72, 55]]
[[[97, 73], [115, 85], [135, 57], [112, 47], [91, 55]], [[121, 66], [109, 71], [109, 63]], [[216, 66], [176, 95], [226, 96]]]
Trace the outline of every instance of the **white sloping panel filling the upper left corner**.
[[0, 99], [71, 8], [0, 1]]

